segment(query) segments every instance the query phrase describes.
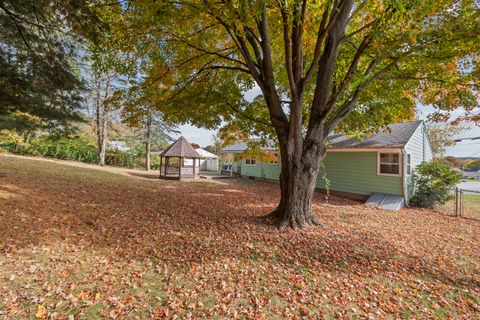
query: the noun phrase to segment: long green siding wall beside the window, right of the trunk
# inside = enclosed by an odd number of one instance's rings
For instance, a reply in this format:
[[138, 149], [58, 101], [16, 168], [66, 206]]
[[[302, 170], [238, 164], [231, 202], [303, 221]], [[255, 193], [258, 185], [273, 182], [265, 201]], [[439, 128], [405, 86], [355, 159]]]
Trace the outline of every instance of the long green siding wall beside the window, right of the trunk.
[[[377, 152], [327, 152], [324, 159], [330, 190], [370, 195], [374, 192], [402, 195], [402, 177], [377, 175]], [[323, 173], [317, 187], [325, 188]]]

